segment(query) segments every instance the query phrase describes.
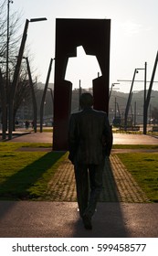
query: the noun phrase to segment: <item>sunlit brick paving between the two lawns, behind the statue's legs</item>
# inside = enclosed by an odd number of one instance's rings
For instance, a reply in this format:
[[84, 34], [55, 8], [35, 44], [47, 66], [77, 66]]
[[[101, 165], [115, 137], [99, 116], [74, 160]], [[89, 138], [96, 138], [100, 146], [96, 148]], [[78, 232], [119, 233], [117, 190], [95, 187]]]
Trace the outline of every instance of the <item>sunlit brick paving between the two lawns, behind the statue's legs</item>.
[[[73, 165], [65, 160], [47, 187], [47, 200], [76, 201], [76, 185]], [[103, 189], [100, 202], [143, 203], [149, 199], [127, 171], [117, 155], [106, 159], [103, 172]]]

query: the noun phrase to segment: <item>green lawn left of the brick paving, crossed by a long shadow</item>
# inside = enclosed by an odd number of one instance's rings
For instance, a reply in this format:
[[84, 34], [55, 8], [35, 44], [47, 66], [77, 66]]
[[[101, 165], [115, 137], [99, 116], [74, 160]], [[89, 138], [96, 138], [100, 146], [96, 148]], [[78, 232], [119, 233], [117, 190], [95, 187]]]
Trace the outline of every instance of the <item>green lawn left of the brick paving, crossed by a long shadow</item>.
[[58, 165], [63, 152], [0, 152], [0, 199], [38, 199]]

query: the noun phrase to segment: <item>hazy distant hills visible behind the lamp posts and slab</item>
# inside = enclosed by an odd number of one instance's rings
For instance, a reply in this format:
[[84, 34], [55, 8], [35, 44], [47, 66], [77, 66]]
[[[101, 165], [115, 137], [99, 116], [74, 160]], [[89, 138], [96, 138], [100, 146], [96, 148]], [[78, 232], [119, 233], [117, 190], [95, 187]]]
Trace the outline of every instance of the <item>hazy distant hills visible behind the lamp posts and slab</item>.
[[[40, 109], [40, 101], [42, 98], [43, 90], [44, 90], [44, 84], [40, 83], [37, 84], [38, 91], [37, 91], [37, 109], [38, 109], [38, 116], [39, 116], [39, 109]], [[49, 84], [48, 87], [54, 88], [53, 84]], [[83, 91], [90, 91], [92, 92], [92, 89], [89, 90], [83, 90]], [[147, 91], [148, 92], [148, 91]], [[143, 120], [143, 91], [137, 91], [132, 94], [132, 105], [129, 111], [129, 116], [136, 113], [136, 121], [137, 123], [142, 123]], [[146, 93], [147, 95], [147, 93]], [[128, 101], [129, 93], [124, 93], [121, 91], [111, 91], [111, 99], [109, 103], [109, 118], [110, 122], [112, 123], [113, 118], [116, 116], [121, 116], [121, 118], [124, 118], [124, 112], [126, 108], [126, 104]], [[150, 112], [152, 111], [153, 107], [158, 108], [158, 91], [152, 91], [151, 95], [151, 101], [149, 106], [149, 116]], [[50, 91], [47, 91], [47, 97], [46, 97], [46, 105], [45, 105], [45, 114], [46, 115], [52, 115], [53, 111], [52, 106], [52, 99], [50, 97]], [[72, 91], [72, 101], [71, 101], [71, 112], [77, 112], [79, 111], [79, 89], [74, 89]]]

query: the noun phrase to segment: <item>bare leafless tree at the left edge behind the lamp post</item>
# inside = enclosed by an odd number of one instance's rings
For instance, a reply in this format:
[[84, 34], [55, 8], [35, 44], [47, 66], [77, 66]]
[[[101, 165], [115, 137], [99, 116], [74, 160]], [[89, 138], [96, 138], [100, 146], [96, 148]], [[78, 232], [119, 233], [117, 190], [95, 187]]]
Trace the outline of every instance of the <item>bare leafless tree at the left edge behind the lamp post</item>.
[[[18, 35], [20, 27], [20, 16], [16, 12], [9, 17], [9, 29], [7, 27], [8, 21], [6, 17], [6, 7], [8, 1], [3, 1], [0, 4], [0, 98], [3, 119], [3, 138], [5, 139], [5, 130], [7, 126], [6, 109], [9, 104], [10, 88], [16, 69], [16, 56], [19, 51], [19, 40], [21, 36]], [[9, 34], [8, 34], [9, 31]], [[7, 55], [7, 47], [9, 42], [9, 54]], [[24, 61], [25, 62], [25, 61]], [[6, 67], [6, 64], [8, 65]], [[22, 63], [20, 75], [16, 85], [16, 93], [14, 96], [14, 117], [13, 129], [15, 128], [16, 112], [19, 106], [25, 99], [26, 102], [31, 100], [30, 86], [27, 78], [26, 64]]]

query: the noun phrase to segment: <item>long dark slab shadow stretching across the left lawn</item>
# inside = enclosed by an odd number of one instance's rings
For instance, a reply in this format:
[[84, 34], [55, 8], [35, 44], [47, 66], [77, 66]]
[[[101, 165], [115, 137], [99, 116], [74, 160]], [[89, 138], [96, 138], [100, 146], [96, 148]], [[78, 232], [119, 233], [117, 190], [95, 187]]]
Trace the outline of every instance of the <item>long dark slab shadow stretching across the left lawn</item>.
[[[56, 170], [55, 166], [58, 160], [64, 155], [63, 152], [49, 152], [43, 155], [37, 161], [30, 165], [26, 165], [23, 169], [19, 170], [15, 175], [10, 176], [0, 186], [0, 199], [2, 200], [21, 200], [32, 199], [39, 197], [39, 194], [44, 192], [47, 186], [47, 179], [52, 176]], [[53, 165], [54, 168], [52, 167]], [[52, 168], [51, 168], [52, 167]], [[36, 189], [34, 193], [30, 193], [29, 188], [35, 187], [35, 183], [43, 178], [42, 176], [50, 169], [47, 177], [41, 181], [40, 191]]]

